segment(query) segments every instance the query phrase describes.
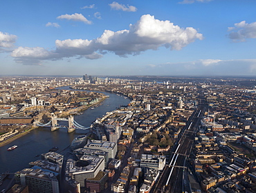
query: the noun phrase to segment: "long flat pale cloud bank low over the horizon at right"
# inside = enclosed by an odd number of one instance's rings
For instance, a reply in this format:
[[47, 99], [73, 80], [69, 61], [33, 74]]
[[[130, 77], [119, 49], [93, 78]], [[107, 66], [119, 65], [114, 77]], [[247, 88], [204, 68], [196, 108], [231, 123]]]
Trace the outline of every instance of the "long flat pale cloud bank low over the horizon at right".
[[141, 70], [147, 75], [255, 75], [256, 59], [199, 59], [181, 63], [150, 64]]

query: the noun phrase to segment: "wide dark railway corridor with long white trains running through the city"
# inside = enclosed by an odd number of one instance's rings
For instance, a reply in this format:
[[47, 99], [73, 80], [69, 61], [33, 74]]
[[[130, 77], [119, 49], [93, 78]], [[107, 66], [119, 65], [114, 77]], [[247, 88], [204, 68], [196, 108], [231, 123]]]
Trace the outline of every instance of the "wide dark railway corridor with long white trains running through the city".
[[152, 187], [152, 193], [191, 192], [188, 185], [185, 185], [185, 163], [190, 156], [194, 136], [204, 111], [205, 100], [201, 99], [198, 108], [192, 113], [188, 123], [179, 134], [179, 138], [172, 148], [171, 161], [165, 165], [160, 179]]

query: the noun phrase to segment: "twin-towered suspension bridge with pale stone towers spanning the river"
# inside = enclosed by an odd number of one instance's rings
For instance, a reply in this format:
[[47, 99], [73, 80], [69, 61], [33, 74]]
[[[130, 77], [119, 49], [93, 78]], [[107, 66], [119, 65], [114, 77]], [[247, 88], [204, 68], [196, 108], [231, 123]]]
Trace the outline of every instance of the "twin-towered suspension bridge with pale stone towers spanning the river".
[[[68, 121], [68, 127], [66, 125], [59, 125], [58, 121]], [[84, 127], [83, 125], [80, 125], [74, 120], [74, 116], [71, 114], [68, 116], [68, 119], [66, 118], [58, 118], [56, 114], [52, 114], [51, 121], [48, 123], [40, 123], [39, 121], [36, 121], [35, 126], [38, 127], [49, 127], [51, 128], [51, 131], [58, 130], [59, 128], [68, 128], [68, 132], [74, 132], [75, 130], [88, 130], [91, 127]]]

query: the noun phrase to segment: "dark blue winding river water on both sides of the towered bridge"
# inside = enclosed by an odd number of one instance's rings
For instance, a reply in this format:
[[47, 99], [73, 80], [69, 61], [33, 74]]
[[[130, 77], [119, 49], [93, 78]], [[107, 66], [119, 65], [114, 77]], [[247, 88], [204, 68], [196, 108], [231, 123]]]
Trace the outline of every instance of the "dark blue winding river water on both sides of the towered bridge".
[[[59, 89], [69, 90], [68, 86]], [[116, 110], [120, 105], [127, 105], [130, 102], [129, 99], [113, 93], [102, 93], [109, 95], [109, 98], [105, 99], [97, 108], [84, 110], [82, 114], [75, 115], [74, 119], [77, 123], [89, 127], [95, 119], [104, 116], [106, 112]], [[40, 159], [41, 156], [36, 157], [38, 154], [46, 153], [55, 146], [60, 148], [57, 152], [61, 152], [71, 145], [76, 136], [84, 133], [86, 133], [84, 130], [75, 130], [68, 134], [66, 128], [60, 128], [54, 132], [51, 132], [51, 128], [37, 128], [0, 148], [0, 174], [2, 172], [17, 172], [29, 167], [30, 161]], [[8, 152], [7, 149], [12, 145], [18, 145], [18, 148]]]

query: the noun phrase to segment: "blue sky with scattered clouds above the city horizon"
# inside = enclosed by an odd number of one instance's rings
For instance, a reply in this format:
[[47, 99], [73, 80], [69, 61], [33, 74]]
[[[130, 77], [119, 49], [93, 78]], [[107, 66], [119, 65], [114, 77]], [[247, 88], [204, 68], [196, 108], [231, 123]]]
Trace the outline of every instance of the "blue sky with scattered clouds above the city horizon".
[[0, 3], [0, 75], [256, 75], [255, 0]]

